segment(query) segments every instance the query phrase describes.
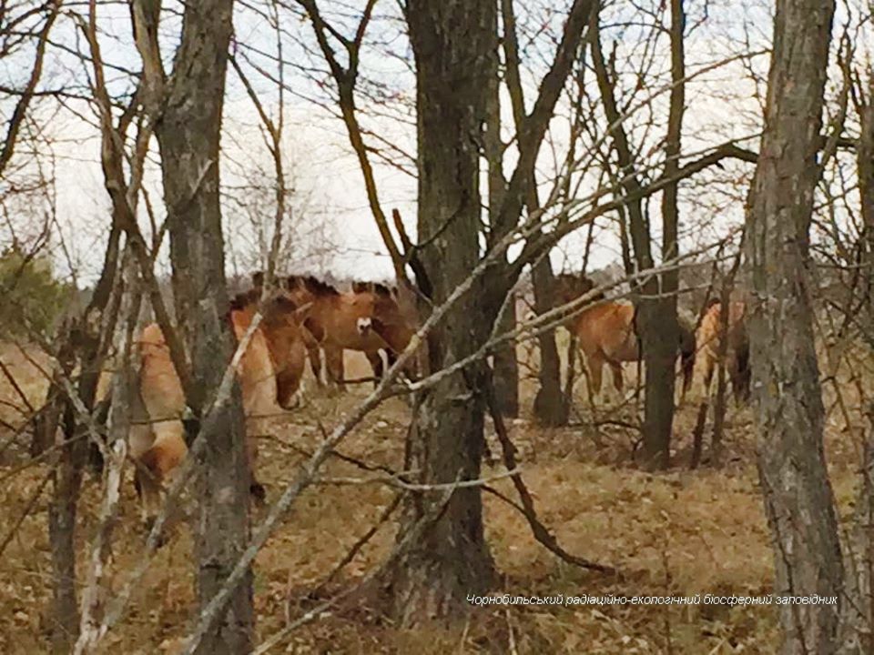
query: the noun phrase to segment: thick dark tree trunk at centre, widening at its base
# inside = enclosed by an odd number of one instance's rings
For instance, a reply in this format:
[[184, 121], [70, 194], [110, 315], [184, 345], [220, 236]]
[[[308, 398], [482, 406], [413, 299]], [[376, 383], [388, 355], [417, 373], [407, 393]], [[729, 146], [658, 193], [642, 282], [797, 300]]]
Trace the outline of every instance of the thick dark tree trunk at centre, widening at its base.
[[[410, 0], [407, 17], [417, 64], [419, 229], [422, 265], [440, 305], [479, 257], [479, 154], [475, 139], [488, 88], [494, 6], [489, 0]], [[428, 338], [428, 366], [444, 368], [473, 352], [497, 307], [483, 307], [483, 284], [452, 307]], [[489, 294], [491, 296], [492, 294]], [[410, 468], [423, 483], [477, 479], [483, 453], [483, 365], [465, 368], [427, 392], [414, 418]], [[458, 489], [445, 509], [442, 494], [408, 502], [401, 536], [439, 514], [390, 572], [393, 614], [402, 625], [463, 610], [469, 593], [493, 583], [483, 537], [480, 489]]]

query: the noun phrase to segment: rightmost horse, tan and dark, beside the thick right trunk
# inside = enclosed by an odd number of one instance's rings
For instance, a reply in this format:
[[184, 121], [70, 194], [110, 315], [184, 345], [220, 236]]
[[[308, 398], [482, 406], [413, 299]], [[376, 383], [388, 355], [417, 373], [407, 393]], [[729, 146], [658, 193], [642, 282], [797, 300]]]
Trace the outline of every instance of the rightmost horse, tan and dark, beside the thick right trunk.
[[[694, 377], [701, 398], [706, 398], [710, 393], [724, 335], [722, 321], [722, 303], [711, 298], [695, 335], [697, 357]], [[749, 398], [750, 368], [747, 306], [744, 302], [729, 302], [727, 328], [726, 370], [737, 403], [746, 402]]]

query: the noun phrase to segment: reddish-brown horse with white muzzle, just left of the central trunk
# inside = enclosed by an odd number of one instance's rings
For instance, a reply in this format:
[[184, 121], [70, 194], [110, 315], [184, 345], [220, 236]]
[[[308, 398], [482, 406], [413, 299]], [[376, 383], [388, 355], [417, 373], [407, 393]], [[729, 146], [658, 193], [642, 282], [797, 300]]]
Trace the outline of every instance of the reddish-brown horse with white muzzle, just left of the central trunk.
[[321, 373], [319, 348], [325, 353], [330, 382], [341, 388], [344, 349], [364, 353], [374, 376], [381, 378], [384, 364], [380, 351], [389, 353], [391, 365], [414, 334], [391, 291], [383, 285], [356, 283], [351, 292], [341, 293], [315, 277], [290, 276], [286, 287], [296, 301], [312, 303], [304, 326], [312, 337], [308, 344], [310, 367], [317, 380]]

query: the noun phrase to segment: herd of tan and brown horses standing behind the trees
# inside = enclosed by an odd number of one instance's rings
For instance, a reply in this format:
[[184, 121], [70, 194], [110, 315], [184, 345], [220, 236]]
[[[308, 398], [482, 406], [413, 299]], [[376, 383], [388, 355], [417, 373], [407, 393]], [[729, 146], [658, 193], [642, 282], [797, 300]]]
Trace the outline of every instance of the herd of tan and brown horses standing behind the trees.
[[[564, 305], [590, 292], [587, 277], [560, 275], [554, 297]], [[311, 276], [280, 280], [262, 299], [263, 276], [230, 303], [229, 320], [239, 340], [249, 331], [257, 311], [261, 320], [252, 330], [248, 348], [236, 370], [246, 415], [246, 441], [251, 491], [263, 497], [254, 477], [256, 442], [269, 434], [269, 420], [294, 408], [299, 399], [306, 362], [316, 384], [342, 388], [343, 351], [358, 350], [370, 361], [374, 379], [381, 378], [384, 353], [391, 364], [409, 345], [418, 326], [414, 304], [396, 289], [378, 283], [354, 283], [342, 292]], [[622, 367], [641, 358], [633, 304], [595, 295], [591, 306], [568, 320], [565, 327], [577, 339], [590, 375], [590, 393], [603, 386], [603, 369], [613, 373], [617, 392], [623, 389]], [[680, 321], [676, 354], [683, 372], [683, 392], [693, 379], [707, 393], [725, 339], [726, 368], [737, 398], [748, 388], [748, 342], [745, 306], [731, 303], [726, 322], [718, 301], [709, 302], [696, 321]], [[725, 333], [725, 334], [724, 334]], [[324, 367], [322, 367], [322, 354]], [[135, 483], [147, 523], [160, 506], [160, 490], [188, 452], [183, 417], [182, 386], [157, 324], [148, 325], [137, 339], [137, 390], [129, 436], [130, 456], [137, 464]], [[325, 374], [323, 379], [323, 373]], [[746, 386], [745, 386], [746, 385]]]

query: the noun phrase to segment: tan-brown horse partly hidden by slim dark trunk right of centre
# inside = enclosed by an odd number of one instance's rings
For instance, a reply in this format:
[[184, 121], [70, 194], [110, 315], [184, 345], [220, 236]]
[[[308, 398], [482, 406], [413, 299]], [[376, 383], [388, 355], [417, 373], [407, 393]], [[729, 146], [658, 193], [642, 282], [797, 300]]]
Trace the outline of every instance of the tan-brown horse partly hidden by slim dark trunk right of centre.
[[[595, 283], [588, 277], [562, 274], [555, 277], [555, 300], [564, 305], [590, 292]], [[574, 334], [585, 356], [585, 365], [592, 378], [593, 395], [600, 394], [603, 387], [604, 367], [613, 371], [613, 384], [617, 393], [622, 393], [622, 364], [636, 362], [641, 358], [641, 341], [637, 334], [637, 307], [632, 303], [609, 301], [603, 293], [592, 297], [597, 302], [586, 307], [572, 318], [567, 328]], [[695, 362], [695, 333], [678, 317], [677, 353], [683, 372], [682, 393], [692, 382]]]

